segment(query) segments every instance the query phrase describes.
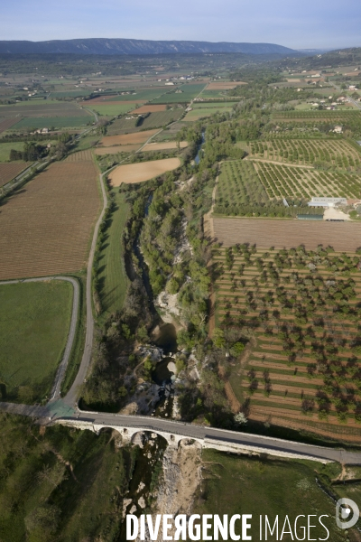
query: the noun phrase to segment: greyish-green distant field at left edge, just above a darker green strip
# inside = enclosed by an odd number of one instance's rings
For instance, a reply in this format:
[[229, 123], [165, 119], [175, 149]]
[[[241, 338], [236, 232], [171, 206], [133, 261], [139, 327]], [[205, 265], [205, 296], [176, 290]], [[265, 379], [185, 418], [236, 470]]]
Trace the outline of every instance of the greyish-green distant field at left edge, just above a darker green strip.
[[0, 117], [89, 117], [88, 111], [77, 107], [71, 102], [47, 103], [42, 100], [39, 104], [20, 102], [13, 106], [0, 106]]

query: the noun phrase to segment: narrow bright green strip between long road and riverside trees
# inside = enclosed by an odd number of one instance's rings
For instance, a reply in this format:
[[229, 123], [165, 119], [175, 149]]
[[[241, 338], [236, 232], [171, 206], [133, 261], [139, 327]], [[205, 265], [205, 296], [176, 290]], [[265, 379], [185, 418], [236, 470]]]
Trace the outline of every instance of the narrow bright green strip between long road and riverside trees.
[[120, 311], [125, 301], [128, 279], [125, 273], [122, 235], [128, 205], [124, 194], [114, 191], [116, 207], [106, 229], [106, 239], [99, 254], [100, 301], [106, 315]]

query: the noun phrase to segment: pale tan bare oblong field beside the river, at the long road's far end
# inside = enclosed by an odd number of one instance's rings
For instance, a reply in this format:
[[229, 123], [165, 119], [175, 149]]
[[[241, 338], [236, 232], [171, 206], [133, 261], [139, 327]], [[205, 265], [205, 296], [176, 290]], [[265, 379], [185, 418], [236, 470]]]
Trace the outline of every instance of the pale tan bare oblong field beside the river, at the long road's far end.
[[164, 160], [153, 160], [152, 162], [141, 162], [140, 164], [119, 165], [109, 179], [113, 186], [120, 186], [122, 182], [132, 184], [153, 179], [162, 173], [170, 172], [180, 167], [179, 158], [165, 158]]

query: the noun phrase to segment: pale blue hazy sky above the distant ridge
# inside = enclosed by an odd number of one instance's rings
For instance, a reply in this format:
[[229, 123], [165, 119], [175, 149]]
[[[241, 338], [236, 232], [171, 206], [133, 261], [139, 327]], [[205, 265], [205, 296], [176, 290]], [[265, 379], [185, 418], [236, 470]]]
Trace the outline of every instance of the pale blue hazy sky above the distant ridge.
[[135, 38], [361, 46], [360, 0], [0, 0], [0, 40]]

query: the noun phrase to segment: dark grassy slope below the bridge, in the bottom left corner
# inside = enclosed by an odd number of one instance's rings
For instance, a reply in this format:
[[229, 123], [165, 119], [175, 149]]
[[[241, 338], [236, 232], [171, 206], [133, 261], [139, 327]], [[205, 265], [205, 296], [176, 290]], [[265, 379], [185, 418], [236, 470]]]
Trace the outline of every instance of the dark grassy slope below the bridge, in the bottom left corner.
[[[5, 436], [0, 447], [1, 540], [119, 539], [121, 505], [136, 450], [115, 449], [108, 433], [97, 436], [54, 426], [43, 435], [20, 416], [0, 413], [0, 427]], [[62, 459], [69, 461], [76, 480]], [[49, 519], [44, 526], [40, 521], [38, 529], [29, 522], [35, 509], [48, 506], [55, 507], [56, 535], [47, 533]]]

